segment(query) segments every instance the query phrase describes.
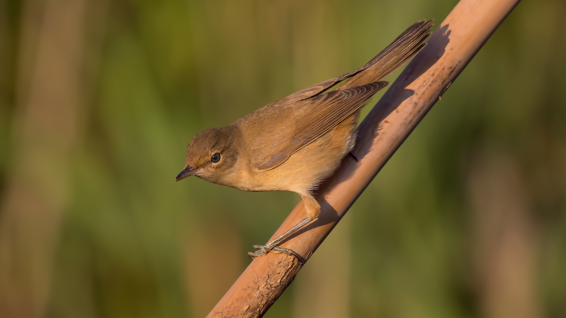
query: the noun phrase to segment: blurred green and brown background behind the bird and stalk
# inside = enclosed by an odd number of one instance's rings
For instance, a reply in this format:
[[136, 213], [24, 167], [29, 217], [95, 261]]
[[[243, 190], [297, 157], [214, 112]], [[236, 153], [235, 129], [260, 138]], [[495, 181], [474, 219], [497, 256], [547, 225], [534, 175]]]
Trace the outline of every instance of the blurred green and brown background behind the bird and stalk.
[[[204, 317], [299, 197], [174, 183], [191, 137], [456, 3], [0, 0], [0, 316]], [[566, 317], [564, 16], [517, 6], [265, 317]]]

